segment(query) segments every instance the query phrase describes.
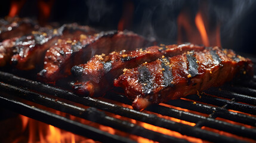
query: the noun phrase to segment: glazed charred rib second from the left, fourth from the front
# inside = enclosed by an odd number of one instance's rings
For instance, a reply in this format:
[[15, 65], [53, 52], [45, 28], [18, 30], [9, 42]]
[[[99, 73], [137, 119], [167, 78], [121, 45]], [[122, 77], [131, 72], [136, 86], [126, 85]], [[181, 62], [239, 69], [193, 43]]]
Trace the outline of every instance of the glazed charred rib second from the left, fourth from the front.
[[33, 31], [31, 35], [17, 39], [15, 49], [17, 54], [11, 58], [11, 64], [19, 70], [32, 70], [44, 61], [45, 52], [59, 38], [76, 38], [81, 34], [92, 34], [93, 29], [76, 24], [64, 24], [59, 29]]

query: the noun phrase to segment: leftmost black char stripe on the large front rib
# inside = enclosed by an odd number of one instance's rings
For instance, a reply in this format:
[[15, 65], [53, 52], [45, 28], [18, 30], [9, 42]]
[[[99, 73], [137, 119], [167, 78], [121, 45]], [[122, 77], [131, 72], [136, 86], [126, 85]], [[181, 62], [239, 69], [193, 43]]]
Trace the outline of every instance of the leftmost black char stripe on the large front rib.
[[153, 79], [146, 66], [138, 67], [138, 81], [143, 85], [144, 94], [151, 94], [153, 90]]

